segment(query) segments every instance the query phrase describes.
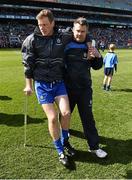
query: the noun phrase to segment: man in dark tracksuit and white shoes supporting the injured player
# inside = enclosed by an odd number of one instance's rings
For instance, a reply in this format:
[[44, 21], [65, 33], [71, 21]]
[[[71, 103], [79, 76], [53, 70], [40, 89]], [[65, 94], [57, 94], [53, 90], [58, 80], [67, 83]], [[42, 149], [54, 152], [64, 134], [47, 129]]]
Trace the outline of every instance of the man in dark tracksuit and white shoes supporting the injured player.
[[[99, 148], [99, 136], [92, 113], [91, 67], [95, 70], [103, 65], [103, 59], [91, 43], [86, 43], [88, 24], [85, 18], [74, 21], [74, 39], [65, 48], [65, 84], [70, 101], [71, 112], [77, 104], [89, 151], [99, 158], [107, 153]], [[89, 46], [89, 48], [88, 48]], [[88, 55], [89, 54], [89, 55]], [[89, 57], [87, 57], [89, 56]]]

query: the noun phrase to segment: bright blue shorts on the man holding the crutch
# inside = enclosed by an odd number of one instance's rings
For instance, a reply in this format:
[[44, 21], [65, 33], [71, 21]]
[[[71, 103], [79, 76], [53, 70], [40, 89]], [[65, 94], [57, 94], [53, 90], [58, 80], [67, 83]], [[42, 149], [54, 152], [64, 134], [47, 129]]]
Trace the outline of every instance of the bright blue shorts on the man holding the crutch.
[[64, 82], [61, 80], [51, 83], [35, 81], [35, 92], [40, 104], [54, 103], [57, 96], [67, 95]]

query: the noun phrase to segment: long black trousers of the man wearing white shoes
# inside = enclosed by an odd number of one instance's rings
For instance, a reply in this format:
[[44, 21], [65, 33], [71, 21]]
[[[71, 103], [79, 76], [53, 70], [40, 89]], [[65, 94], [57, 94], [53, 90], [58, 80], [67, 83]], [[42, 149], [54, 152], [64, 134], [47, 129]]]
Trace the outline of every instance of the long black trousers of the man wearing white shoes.
[[71, 112], [75, 105], [78, 107], [84, 135], [91, 150], [99, 148], [99, 136], [95, 127], [95, 120], [92, 112], [92, 89], [71, 90], [67, 89]]

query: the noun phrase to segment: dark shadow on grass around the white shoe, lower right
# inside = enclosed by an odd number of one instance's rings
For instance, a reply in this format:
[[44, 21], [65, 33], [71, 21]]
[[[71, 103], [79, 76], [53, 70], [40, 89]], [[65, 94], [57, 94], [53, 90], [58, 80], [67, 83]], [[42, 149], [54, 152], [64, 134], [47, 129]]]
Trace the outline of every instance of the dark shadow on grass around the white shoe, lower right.
[[[83, 133], [80, 131], [70, 130], [70, 134], [78, 138], [85, 139]], [[120, 140], [116, 138], [107, 138], [100, 136], [100, 144], [105, 146], [103, 149], [108, 153], [107, 158], [99, 159], [94, 154], [91, 154], [88, 151], [76, 150], [75, 160], [80, 162], [99, 163], [102, 165], [115, 163], [128, 164], [132, 162], [132, 139]]]

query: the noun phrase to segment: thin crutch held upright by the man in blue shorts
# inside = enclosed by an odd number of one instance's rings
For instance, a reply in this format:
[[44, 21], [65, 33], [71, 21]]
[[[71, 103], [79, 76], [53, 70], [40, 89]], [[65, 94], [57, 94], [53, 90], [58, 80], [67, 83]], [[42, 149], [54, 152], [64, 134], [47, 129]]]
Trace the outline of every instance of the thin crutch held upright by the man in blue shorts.
[[24, 147], [26, 146], [27, 141], [27, 116], [28, 116], [28, 96], [25, 96], [25, 105], [24, 105]]

